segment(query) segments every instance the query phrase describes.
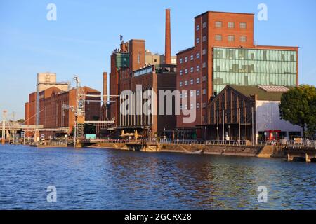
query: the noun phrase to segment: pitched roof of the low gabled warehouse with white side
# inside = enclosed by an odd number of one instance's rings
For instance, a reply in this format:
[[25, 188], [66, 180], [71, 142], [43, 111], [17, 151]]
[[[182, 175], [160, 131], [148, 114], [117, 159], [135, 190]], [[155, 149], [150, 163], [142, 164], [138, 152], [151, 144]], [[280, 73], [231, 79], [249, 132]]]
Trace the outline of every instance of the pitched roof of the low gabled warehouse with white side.
[[[245, 95], [246, 97], [257, 95], [258, 100], [266, 101], [280, 101], [282, 94], [287, 92], [287, 88], [284, 87], [272, 87], [272, 86], [242, 86], [242, 85], [229, 85], [237, 92]], [[270, 89], [270, 90], [269, 90]]]

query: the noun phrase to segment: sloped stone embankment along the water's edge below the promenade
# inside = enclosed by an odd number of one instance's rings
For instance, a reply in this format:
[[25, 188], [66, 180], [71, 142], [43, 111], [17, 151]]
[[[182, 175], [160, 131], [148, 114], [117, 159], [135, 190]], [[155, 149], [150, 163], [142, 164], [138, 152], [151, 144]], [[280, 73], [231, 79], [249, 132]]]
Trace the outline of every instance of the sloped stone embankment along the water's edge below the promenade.
[[[130, 151], [131, 146], [125, 143], [98, 143], [89, 146], [91, 148], [111, 148]], [[208, 155], [234, 155], [245, 157], [272, 158], [283, 157], [275, 146], [205, 146], [187, 144], [158, 144], [157, 147], [144, 146], [140, 151], [164, 152], [164, 153], [203, 153]]]

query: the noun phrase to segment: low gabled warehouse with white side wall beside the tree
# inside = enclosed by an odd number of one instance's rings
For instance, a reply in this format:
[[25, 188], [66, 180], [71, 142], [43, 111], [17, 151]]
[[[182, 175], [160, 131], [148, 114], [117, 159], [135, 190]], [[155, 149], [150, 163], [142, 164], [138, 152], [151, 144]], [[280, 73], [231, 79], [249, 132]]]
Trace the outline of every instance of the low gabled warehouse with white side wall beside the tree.
[[301, 127], [279, 116], [279, 103], [289, 88], [228, 85], [207, 106], [205, 139], [249, 141], [254, 144], [301, 137]]

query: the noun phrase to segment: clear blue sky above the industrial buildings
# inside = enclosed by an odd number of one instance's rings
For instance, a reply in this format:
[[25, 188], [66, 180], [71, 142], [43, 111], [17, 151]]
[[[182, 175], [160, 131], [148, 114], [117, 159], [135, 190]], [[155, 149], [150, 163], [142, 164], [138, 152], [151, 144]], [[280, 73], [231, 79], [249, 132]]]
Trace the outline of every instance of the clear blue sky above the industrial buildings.
[[[48, 3], [57, 21], [46, 20]], [[171, 0], [79, 1], [0, 0], [0, 110], [24, 118], [39, 72], [58, 80], [77, 74], [83, 85], [102, 90], [110, 54], [124, 40], [142, 38], [152, 52], [164, 52], [164, 9], [171, 8], [173, 55], [193, 45], [193, 18], [206, 10], [258, 13], [268, 6], [268, 21], [255, 20], [259, 45], [300, 47], [300, 83], [316, 85], [316, 1]]]

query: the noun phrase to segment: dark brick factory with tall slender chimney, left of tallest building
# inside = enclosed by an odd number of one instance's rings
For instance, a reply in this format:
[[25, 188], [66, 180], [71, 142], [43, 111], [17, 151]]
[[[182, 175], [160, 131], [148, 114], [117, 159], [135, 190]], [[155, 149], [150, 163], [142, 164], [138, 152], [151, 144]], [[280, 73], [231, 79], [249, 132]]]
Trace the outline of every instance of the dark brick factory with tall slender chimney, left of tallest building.
[[[170, 10], [166, 10], [166, 48], [165, 55], [152, 54], [145, 50], [145, 41], [132, 39], [122, 41], [120, 48], [111, 55], [110, 95], [120, 95], [124, 90], [137, 91], [142, 85], [140, 94], [145, 90], [176, 90], [176, 57], [171, 56]], [[143, 100], [140, 99], [143, 103]], [[159, 99], [153, 105], [158, 107]], [[123, 116], [120, 111], [121, 99], [110, 102], [110, 120], [115, 120], [113, 130], [117, 134], [126, 132], [147, 131], [150, 136], [161, 136], [166, 130], [176, 127], [176, 116], [145, 115]]]

